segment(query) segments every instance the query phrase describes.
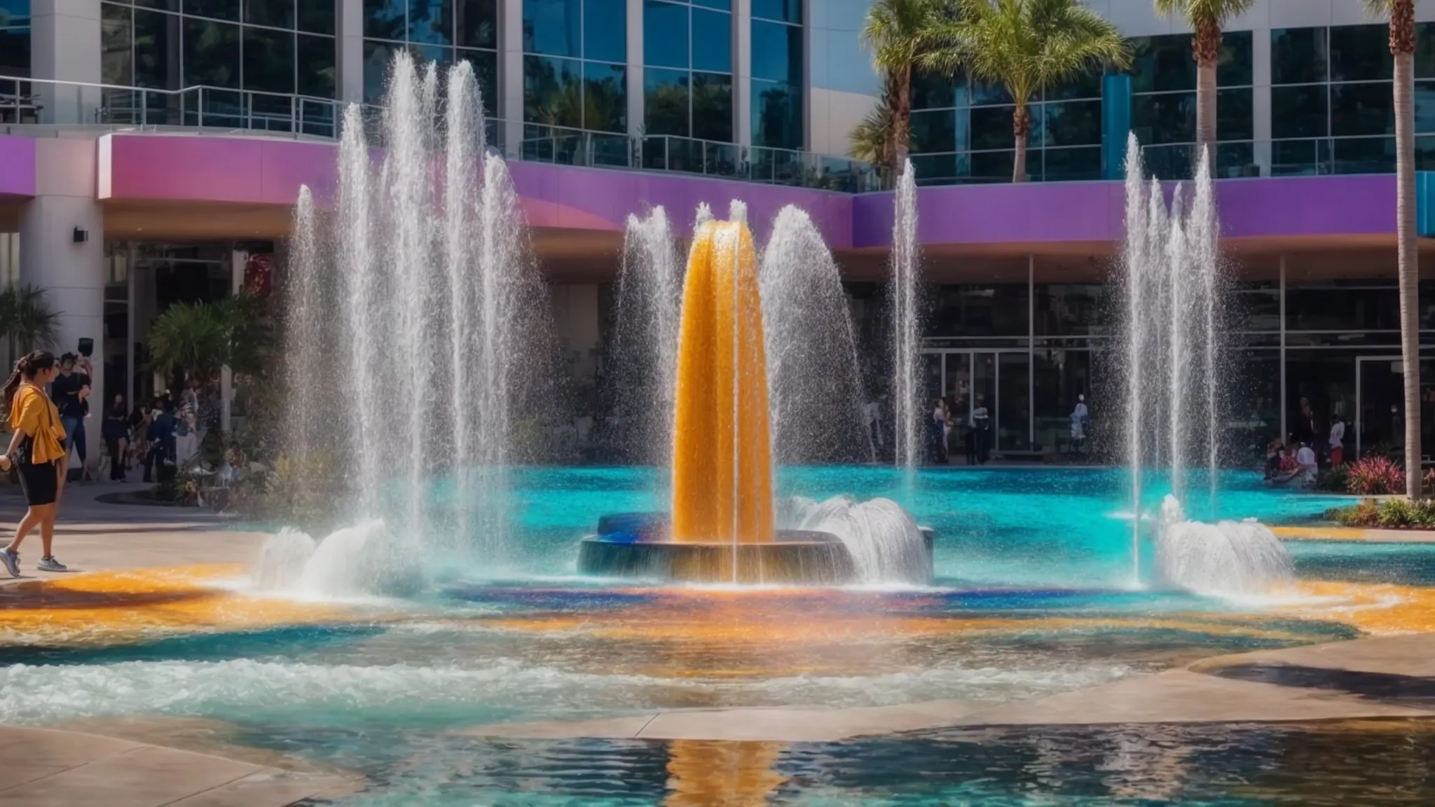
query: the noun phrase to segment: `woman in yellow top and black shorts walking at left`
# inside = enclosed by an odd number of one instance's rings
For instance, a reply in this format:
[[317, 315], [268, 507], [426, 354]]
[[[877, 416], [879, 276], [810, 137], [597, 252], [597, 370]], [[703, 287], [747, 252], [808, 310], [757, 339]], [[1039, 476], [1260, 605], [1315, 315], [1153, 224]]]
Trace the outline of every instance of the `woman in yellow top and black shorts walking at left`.
[[55, 541], [55, 516], [59, 508], [60, 474], [65, 472], [65, 428], [60, 414], [55, 409], [44, 385], [55, 381], [60, 369], [55, 356], [36, 350], [14, 363], [14, 373], [4, 385], [4, 399], [10, 402], [10, 447], [0, 454], [0, 471], [11, 465], [20, 474], [20, 488], [30, 508], [14, 528], [14, 540], [0, 550], [0, 566], [11, 577], [20, 576], [20, 543], [30, 530], [40, 527], [40, 544], [44, 557], [36, 569], [42, 572], [65, 572], [55, 560], [50, 544]]

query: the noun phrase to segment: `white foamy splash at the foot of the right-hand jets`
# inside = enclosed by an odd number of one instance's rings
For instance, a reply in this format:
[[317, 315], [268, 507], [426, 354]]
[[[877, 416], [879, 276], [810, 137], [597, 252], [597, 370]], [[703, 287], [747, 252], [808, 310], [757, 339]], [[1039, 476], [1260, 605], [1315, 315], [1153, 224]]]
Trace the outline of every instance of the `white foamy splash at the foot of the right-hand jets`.
[[1269, 594], [1294, 580], [1294, 563], [1269, 527], [1244, 521], [1188, 521], [1181, 503], [1161, 503], [1157, 576], [1203, 594]]

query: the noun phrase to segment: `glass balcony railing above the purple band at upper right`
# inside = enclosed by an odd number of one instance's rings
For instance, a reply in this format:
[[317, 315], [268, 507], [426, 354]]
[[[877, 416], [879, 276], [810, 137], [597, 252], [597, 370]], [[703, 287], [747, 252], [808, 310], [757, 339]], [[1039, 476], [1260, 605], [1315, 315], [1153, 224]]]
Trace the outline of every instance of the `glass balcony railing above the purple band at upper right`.
[[[1190, 179], [1195, 144], [1149, 145], [1141, 149], [1147, 172], [1162, 179]], [[1435, 135], [1415, 138], [1415, 167], [1435, 168]], [[1215, 144], [1215, 177], [1325, 177], [1393, 174], [1395, 138], [1292, 138]]]

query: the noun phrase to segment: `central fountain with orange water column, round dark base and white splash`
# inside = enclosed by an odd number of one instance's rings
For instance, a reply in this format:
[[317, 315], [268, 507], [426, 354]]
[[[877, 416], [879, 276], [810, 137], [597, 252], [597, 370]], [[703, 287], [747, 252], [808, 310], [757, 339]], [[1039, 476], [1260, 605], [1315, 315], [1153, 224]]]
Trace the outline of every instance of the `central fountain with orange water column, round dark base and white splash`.
[[[745, 221], [700, 217], [677, 337], [672, 516], [603, 517], [581, 543], [578, 572], [705, 583], [930, 580], [930, 538], [893, 503], [799, 507], [788, 521], [844, 527], [779, 528], [758, 266]], [[854, 557], [852, 547], [872, 549]]]

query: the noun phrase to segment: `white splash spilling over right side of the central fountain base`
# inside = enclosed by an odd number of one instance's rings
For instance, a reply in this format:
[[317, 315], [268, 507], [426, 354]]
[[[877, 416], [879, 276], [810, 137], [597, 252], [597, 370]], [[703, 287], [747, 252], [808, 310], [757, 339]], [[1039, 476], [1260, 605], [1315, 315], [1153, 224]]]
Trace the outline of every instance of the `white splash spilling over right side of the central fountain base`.
[[831, 533], [852, 556], [860, 583], [926, 583], [931, 580], [931, 556], [921, 528], [890, 498], [857, 501], [848, 495], [827, 501], [794, 497], [782, 508], [779, 523], [792, 530]]

